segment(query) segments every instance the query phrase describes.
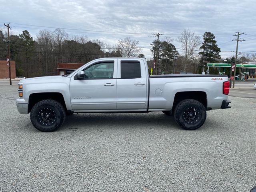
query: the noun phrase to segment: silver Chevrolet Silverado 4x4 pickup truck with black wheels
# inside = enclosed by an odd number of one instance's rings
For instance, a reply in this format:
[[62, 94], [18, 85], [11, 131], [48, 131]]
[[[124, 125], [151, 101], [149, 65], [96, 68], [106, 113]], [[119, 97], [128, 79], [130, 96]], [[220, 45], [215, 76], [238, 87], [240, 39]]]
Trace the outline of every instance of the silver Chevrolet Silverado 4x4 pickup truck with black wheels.
[[144, 58], [100, 58], [68, 76], [28, 78], [18, 83], [21, 114], [40, 131], [59, 128], [72, 113], [154, 112], [174, 115], [195, 130], [206, 110], [230, 108], [224, 75], [151, 75]]

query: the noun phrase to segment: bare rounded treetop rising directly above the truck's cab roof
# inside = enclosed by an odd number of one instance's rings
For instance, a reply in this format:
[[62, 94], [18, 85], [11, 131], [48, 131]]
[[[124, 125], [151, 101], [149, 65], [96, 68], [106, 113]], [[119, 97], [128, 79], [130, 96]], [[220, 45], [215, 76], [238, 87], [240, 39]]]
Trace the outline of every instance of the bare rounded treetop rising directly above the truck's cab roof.
[[118, 45], [122, 48], [123, 56], [131, 57], [137, 56], [141, 52], [141, 48], [138, 46], [139, 41], [133, 40], [130, 37], [118, 40]]

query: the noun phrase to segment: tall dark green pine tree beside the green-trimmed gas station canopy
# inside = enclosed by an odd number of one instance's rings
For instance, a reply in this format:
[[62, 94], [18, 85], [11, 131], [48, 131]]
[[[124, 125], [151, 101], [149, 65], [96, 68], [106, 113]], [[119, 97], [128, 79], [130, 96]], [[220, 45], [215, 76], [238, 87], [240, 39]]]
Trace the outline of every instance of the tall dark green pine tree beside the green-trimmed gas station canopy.
[[218, 45], [216, 44], [216, 40], [214, 34], [211, 32], [205, 32], [204, 35], [204, 42], [202, 43], [202, 46], [200, 49], [202, 50], [199, 52], [200, 55], [202, 55], [201, 64], [204, 61], [210, 62], [210, 63], [216, 63], [216, 59], [220, 59], [220, 48], [218, 48]]

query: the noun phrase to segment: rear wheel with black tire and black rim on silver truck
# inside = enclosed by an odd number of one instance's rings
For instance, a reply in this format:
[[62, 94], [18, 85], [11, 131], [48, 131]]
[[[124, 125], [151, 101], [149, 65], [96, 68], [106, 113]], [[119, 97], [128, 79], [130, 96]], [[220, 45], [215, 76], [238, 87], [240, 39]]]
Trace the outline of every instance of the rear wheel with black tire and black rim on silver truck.
[[176, 123], [186, 130], [200, 128], [206, 120], [206, 109], [202, 103], [194, 99], [179, 102], [174, 110]]

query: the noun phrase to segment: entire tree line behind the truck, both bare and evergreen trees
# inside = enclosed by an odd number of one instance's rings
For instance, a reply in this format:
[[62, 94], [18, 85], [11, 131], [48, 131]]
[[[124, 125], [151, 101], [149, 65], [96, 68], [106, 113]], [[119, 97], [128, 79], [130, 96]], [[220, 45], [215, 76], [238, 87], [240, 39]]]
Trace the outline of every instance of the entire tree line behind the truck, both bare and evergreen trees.
[[[4, 34], [0, 30], [0, 39]], [[5, 60], [10, 43], [11, 59], [16, 61], [16, 76], [49, 76], [57, 74], [57, 63], [87, 63], [97, 57], [144, 57], [139, 41], [130, 37], [119, 39], [117, 44], [105, 44], [100, 40], [89, 40], [87, 36], [69, 37], [65, 30], [39, 30], [36, 39], [27, 30], [22, 34], [10, 35], [10, 42], [0, 42], [0, 59]], [[151, 52], [158, 56], [158, 71], [153, 62], [154, 74], [173, 73], [176, 71], [197, 73], [205, 62], [218, 62], [218, 48], [214, 34], [205, 32], [203, 42], [189, 29], [185, 29], [177, 40], [182, 45], [179, 50], [172, 44], [173, 39], [152, 42]], [[156, 67], [156, 66], [155, 66]]]

